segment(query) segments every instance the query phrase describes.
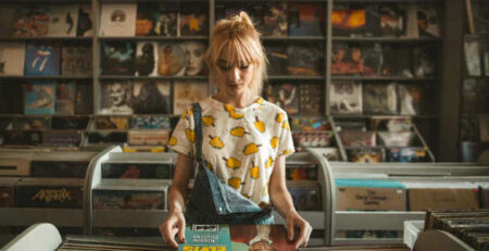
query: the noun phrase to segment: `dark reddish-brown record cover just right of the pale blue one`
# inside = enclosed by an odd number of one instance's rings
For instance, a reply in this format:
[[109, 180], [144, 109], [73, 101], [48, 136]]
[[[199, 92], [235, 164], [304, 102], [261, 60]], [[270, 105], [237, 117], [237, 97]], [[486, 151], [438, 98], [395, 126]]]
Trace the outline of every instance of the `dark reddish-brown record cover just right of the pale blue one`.
[[63, 115], [75, 114], [76, 83], [59, 81], [57, 84], [55, 113]]

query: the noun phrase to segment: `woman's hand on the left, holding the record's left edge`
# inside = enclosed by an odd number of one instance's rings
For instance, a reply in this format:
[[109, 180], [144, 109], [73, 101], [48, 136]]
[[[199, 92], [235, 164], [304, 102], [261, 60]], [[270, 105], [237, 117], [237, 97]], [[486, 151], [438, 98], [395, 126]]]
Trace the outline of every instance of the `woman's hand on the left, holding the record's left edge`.
[[160, 233], [163, 241], [173, 248], [178, 248], [175, 236], [178, 234], [178, 241], [185, 243], [185, 216], [181, 212], [170, 213], [166, 221], [160, 225]]

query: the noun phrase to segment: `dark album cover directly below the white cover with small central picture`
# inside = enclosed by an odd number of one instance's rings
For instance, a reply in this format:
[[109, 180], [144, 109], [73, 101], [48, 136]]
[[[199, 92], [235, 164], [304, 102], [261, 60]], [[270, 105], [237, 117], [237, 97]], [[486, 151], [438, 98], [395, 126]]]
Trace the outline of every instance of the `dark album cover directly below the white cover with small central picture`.
[[135, 73], [135, 43], [102, 42], [101, 67], [103, 75], [130, 75]]

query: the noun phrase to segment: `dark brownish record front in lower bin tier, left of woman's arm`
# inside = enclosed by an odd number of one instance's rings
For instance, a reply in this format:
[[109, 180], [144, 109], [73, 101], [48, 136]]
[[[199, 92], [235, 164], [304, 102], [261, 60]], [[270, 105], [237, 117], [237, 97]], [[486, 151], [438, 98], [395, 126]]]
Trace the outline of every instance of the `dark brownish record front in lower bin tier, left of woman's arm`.
[[93, 210], [164, 210], [164, 190], [93, 190]]

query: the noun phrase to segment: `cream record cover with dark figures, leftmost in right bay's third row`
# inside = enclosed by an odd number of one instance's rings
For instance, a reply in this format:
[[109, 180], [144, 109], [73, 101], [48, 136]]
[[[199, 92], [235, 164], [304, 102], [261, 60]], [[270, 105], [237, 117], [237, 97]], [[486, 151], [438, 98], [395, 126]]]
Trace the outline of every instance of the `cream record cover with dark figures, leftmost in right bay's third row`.
[[331, 83], [329, 105], [331, 113], [362, 113], [362, 84], [355, 81]]

